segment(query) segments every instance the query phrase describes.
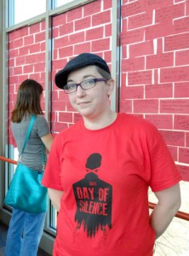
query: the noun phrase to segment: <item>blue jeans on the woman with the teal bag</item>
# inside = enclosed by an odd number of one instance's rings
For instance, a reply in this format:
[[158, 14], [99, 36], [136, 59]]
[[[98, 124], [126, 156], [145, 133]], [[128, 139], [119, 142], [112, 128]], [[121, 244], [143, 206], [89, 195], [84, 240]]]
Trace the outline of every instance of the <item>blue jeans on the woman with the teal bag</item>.
[[43, 235], [46, 212], [28, 213], [13, 209], [10, 219], [5, 256], [37, 256]]

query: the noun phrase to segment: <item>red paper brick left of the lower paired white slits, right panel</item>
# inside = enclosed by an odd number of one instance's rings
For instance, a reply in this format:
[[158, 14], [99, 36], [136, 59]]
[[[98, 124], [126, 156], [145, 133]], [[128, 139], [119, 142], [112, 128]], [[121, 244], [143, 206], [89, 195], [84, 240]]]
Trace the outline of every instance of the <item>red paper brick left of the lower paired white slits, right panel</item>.
[[152, 84], [152, 71], [128, 73], [128, 85]]

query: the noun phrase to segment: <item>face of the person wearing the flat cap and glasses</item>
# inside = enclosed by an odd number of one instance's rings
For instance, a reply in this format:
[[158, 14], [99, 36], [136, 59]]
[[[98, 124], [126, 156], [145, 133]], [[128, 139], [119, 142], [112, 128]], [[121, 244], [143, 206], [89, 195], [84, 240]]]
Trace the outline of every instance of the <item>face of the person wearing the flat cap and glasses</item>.
[[[95, 66], [88, 66], [73, 71], [68, 75], [67, 84], [78, 84], [87, 79], [101, 79]], [[112, 94], [114, 81], [96, 82], [93, 88], [83, 90], [77, 86], [77, 91], [68, 94], [72, 107], [84, 118], [98, 118], [98, 115], [109, 111], [109, 96]]]

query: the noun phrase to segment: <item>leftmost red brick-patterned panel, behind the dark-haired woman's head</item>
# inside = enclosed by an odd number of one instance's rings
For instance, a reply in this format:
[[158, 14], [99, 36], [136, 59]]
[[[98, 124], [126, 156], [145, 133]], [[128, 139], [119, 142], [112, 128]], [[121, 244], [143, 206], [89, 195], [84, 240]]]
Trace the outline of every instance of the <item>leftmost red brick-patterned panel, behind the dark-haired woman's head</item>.
[[[19, 85], [25, 79], [45, 82], [45, 23], [40, 22], [9, 33], [9, 118]], [[44, 110], [44, 100], [42, 100]], [[14, 138], [9, 130], [9, 143]]]

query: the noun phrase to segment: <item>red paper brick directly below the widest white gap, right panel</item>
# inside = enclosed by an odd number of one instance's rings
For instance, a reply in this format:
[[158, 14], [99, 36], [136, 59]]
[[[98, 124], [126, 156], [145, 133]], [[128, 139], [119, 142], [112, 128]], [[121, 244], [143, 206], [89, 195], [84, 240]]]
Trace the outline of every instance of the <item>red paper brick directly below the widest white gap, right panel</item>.
[[174, 53], [164, 53], [146, 56], [146, 69], [158, 67], [172, 67], [174, 65]]

